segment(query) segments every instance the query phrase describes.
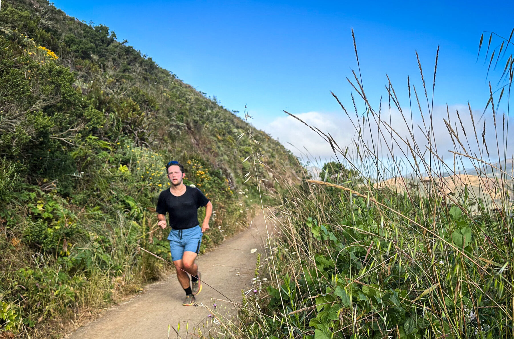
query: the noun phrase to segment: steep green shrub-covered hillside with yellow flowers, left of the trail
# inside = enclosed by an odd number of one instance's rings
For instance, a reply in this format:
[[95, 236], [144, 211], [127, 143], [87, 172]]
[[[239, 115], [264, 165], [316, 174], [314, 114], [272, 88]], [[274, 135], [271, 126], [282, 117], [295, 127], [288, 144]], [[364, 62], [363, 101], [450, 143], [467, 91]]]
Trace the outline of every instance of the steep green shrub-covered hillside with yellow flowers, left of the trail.
[[170, 160], [214, 204], [201, 251], [242, 227], [256, 178], [273, 195], [303, 171], [108, 27], [44, 0], [2, 2], [0, 337], [45, 336], [166, 272], [140, 247], [169, 256], [153, 208]]

